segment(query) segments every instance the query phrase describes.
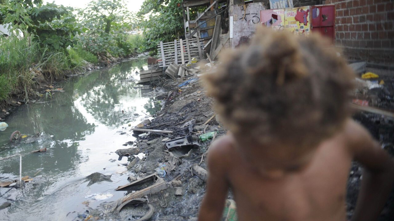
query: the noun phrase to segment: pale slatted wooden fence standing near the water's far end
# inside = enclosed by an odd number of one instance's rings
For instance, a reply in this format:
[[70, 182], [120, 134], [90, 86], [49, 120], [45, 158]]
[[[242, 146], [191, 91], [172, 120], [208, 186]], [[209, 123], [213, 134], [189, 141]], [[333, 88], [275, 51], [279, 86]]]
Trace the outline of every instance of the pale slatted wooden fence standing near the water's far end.
[[167, 43], [161, 41], [157, 46], [159, 59], [162, 59], [162, 61], [159, 62], [160, 67], [167, 67], [170, 64], [191, 64], [193, 58], [197, 58], [199, 61], [203, 59], [204, 43], [198, 38], [186, 40], [179, 39]]

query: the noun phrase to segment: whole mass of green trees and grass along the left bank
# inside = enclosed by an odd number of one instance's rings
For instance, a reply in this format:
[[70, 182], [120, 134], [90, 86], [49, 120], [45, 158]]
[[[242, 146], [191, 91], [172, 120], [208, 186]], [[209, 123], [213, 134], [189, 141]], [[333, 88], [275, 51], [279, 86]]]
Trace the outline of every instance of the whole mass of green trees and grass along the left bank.
[[14, 33], [0, 37], [0, 105], [13, 95], [50, 97], [35, 90], [40, 83], [143, 50], [141, 36], [128, 35], [136, 25], [124, 0], [93, 0], [77, 12], [42, 0], [0, 0], [0, 24]]

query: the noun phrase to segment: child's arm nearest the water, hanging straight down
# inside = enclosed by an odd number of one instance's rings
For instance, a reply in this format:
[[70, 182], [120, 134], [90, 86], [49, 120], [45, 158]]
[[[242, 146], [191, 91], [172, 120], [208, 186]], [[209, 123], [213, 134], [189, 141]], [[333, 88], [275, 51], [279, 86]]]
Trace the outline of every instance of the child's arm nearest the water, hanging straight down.
[[218, 140], [209, 148], [208, 180], [206, 193], [201, 203], [199, 221], [219, 221], [227, 197], [229, 184], [226, 177], [226, 142]]

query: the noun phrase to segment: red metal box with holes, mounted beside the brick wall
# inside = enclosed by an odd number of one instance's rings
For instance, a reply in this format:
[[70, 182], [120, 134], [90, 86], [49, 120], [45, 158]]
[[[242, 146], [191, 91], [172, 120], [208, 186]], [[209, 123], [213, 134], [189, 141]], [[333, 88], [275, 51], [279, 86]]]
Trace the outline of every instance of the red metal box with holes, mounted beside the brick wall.
[[335, 42], [335, 6], [312, 7], [312, 32], [320, 32]]

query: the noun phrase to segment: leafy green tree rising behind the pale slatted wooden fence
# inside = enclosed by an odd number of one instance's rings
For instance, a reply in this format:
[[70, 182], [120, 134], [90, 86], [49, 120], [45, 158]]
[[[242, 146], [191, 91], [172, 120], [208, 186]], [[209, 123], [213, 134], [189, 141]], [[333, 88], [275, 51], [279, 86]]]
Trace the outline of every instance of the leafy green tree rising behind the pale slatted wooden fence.
[[[145, 50], [156, 52], [160, 41], [184, 35], [182, 0], [145, 0], [138, 12], [145, 37]], [[148, 17], [145, 19], [145, 17]]]

